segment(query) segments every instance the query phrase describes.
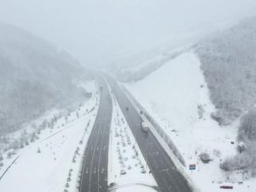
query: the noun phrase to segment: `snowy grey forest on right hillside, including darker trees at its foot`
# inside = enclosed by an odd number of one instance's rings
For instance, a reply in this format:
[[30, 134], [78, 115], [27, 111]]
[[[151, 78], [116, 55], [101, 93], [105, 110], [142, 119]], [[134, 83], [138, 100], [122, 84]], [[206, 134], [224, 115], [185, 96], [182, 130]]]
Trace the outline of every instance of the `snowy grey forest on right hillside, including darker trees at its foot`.
[[219, 125], [241, 118], [238, 153], [220, 165], [224, 171], [242, 170], [256, 176], [256, 17], [195, 46], [207, 80]]

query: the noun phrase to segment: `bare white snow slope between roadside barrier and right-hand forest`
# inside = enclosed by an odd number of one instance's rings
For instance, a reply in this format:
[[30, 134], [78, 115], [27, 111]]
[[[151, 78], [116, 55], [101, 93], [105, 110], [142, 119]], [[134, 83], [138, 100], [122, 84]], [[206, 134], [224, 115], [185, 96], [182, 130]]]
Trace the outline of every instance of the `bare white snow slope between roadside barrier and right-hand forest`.
[[[242, 180], [240, 173], [231, 174], [228, 181], [219, 169], [221, 160], [236, 154], [238, 122], [220, 127], [210, 117], [215, 109], [200, 65], [194, 53], [184, 53], [145, 79], [125, 84], [125, 87], [172, 138], [186, 165], [196, 164], [194, 172], [188, 167], [185, 172], [201, 191], [222, 191], [219, 186], [224, 183], [234, 185], [233, 191], [253, 191], [255, 179], [238, 185]], [[198, 155], [203, 152], [210, 154], [209, 164], [201, 162]]]

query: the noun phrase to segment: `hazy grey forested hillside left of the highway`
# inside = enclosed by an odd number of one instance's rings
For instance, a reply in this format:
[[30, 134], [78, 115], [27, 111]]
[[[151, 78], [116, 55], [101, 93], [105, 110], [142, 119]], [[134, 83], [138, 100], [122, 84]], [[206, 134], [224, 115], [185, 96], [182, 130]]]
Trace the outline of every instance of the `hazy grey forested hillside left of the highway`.
[[[0, 22], [0, 132], [86, 96], [78, 61], [25, 30]], [[86, 75], [85, 75], [86, 76]]]

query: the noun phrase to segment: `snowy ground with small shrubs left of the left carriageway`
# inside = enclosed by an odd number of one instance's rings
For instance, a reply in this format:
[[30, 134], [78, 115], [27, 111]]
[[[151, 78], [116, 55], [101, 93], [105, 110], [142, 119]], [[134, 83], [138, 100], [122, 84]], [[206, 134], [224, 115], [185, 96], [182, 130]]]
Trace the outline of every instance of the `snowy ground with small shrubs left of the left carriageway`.
[[[41, 131], [36, 141], [15, 150], [9, 159], [6, 156], [10, 151], [3, 154], [1, 192], [75, 191], [82, 154], [96, 119], [99, 102], [96, 82], [87, 85], [92, 91], [89, 101], [66, 118], [58, 119], [52, 128]], [[9, 170], [3, 174], [9, 166]]]

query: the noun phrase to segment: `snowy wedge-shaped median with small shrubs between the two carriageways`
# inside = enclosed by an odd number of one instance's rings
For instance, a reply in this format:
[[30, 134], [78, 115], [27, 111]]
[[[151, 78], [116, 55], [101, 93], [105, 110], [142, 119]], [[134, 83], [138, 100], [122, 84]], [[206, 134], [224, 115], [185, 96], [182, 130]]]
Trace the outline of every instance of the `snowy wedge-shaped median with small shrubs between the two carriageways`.
[[122, 186], [117, 191], [154, 191], [143, 185], [157, 186], [143, 158], [118, 102], [113, 98], [113, 116], [108, 150], [108, 184]]

